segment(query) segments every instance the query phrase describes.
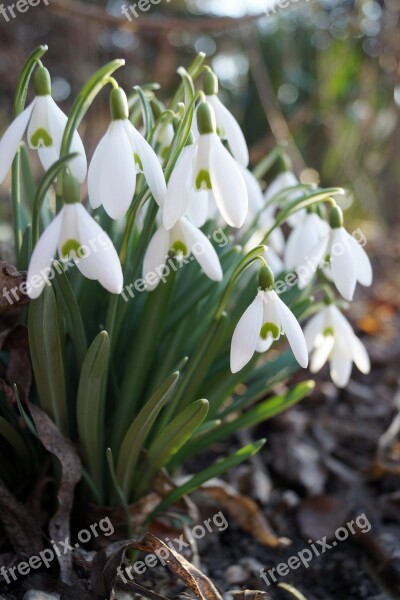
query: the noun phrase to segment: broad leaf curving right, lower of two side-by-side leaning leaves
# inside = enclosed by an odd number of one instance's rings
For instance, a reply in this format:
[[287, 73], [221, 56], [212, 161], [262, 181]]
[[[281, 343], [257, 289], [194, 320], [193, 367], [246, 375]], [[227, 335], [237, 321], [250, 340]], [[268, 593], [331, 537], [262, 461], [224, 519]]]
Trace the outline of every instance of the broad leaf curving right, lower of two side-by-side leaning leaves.
[[138, 495], [142, 495], [153, 477], [191, 438], [208, 413], [207, 400], [196, 400], [185, 408], [151, 444], [140, 478]]

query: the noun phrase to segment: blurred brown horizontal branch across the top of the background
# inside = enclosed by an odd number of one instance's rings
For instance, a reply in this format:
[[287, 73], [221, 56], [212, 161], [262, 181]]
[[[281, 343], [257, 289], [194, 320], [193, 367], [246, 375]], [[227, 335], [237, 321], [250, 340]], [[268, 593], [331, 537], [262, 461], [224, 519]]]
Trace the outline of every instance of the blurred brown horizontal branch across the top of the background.
[[104, 9], [97, 6], [82, 4], [81, 2], [74, 0], [52, 0], [48, 6], [48, 10], [63, 16], [67, 15], [83, 19], [94, 19], [95, 21], [107, 25], [124, 25], [133, 31], [139, 31], [143, 34], [166, 33], [174, 29], [197, 33], [199, 31], [226, 31], [229, 29], [237, 29], [241, 23], [257, 21], [266, 16], [265, 12], [262, 12], [257, 15], [246, 15], [240, 18], [209, 17], [180, 19], [166, 17], [161, 20], [155, 17], [140, 15], [140, 19], [137, 19], [137, 22], [135, 22], [134, 20], [128, 21], [123, 16], [116, 17], [110, 15]]

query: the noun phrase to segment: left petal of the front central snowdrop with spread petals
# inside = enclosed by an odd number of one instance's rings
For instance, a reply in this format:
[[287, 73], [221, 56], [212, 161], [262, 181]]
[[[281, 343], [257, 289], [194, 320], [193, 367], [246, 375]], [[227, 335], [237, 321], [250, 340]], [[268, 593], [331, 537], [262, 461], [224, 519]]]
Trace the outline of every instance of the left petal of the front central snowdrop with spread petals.
[[163, 225], [171, 229], [185, 214], [191, 193], [194, 146], [186, 146], [172, 171], [163, 207]]

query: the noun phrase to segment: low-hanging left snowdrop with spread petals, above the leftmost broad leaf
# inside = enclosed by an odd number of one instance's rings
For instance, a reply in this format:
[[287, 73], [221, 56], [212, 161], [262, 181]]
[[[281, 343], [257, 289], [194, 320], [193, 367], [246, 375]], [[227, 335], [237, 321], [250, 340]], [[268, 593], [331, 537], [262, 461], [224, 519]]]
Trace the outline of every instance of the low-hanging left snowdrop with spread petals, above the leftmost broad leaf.
[[57, 249], [60, 258], [72, 259], [82, 275], [120, 294], [122, 268], [110, 238], [80, 203], [78, 181], [66, 174], [63, 183], [65, 205], [42, 233], [29, 264], [29, 297], [34, 299], [42, 293]]

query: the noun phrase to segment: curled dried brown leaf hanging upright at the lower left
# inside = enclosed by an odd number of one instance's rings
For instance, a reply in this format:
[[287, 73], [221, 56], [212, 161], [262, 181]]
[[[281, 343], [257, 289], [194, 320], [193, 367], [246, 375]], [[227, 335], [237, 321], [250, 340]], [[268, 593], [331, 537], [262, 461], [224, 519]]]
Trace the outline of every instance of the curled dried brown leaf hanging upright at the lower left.
[[[58, 458], [62, 467], [61, 483], [58, 490], [58, 509], [49, 523], [52, 540], [65, 542], [70, 538], [70, 515], [74, 501], [75, 486], [81, 478], [82, 465], [73, 444], [65, 438], [53, 421], [39, 407], [29, 404], [38, 436], [44, 447]], [[71, 553], [58, 556], [61, 579], [72, 583]]]

